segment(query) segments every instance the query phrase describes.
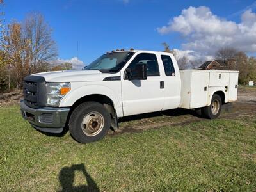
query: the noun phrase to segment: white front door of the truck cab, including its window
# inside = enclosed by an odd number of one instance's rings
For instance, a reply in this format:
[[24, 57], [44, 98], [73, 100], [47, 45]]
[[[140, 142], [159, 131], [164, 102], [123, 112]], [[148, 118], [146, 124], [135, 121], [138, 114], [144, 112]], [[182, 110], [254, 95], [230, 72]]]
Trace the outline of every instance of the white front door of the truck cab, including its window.
[[163, 79], [160, 76], [156, 54], [140, 53], [127, 68], [147, 64], [147, 80], [127, 80], [122, 77], [124, 116], [161, 111], [164, 105]]

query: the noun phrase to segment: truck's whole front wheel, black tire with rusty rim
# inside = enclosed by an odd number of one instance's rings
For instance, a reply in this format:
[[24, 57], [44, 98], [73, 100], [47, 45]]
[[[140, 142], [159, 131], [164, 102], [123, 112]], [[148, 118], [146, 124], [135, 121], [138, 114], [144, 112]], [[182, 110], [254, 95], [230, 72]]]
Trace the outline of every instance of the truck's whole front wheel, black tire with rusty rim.
[[110, 125], [110, 114], [98, 102], [80, 104], [69, 120], [70, 134], [79, 143], [91, 143], [104, 138]]

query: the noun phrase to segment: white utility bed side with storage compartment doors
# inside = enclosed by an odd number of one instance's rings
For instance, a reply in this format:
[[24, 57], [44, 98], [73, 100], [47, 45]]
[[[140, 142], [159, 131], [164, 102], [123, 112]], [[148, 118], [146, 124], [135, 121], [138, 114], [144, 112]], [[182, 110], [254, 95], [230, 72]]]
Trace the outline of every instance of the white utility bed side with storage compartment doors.
[[237, 71], [182, 70], [180, 108], [194, 109], [209, 106], [215, 92], [225, 94], [225, 102], [237, 100]]

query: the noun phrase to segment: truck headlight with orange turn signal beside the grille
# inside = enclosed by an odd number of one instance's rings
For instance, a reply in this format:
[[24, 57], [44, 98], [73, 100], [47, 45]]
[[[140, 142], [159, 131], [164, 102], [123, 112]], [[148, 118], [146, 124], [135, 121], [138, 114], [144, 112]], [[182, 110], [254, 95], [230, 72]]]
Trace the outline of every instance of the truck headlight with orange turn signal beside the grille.
[[62, 97], [71, 90], [70, 82], [65, 83], [46, 83], [46, 105], [58, 106]]

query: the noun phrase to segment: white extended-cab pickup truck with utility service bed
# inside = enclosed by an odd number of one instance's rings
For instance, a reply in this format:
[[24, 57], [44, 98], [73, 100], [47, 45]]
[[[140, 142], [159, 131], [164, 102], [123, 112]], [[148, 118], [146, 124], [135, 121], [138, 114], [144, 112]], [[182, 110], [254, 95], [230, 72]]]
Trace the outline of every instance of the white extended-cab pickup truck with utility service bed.
[[118, 118], [175, 108], [201, 109], [206, 118], [237, 100], [237, 71], [183, 70], [174, 56], [114, 51], [84, 70], [43, 72], [24, 78], [22, 116], [43, 132], [68, 127], [80, 143], [118, 129]]

